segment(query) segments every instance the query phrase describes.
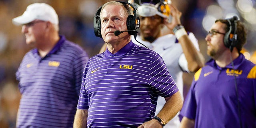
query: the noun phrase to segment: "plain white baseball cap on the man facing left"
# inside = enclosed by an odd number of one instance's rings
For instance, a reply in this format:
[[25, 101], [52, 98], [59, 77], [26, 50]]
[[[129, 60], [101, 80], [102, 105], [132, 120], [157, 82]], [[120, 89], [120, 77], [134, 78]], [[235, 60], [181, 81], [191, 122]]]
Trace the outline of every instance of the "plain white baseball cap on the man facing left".
[[14, 19], [13, 24], [22, 25], [33, 20], [50, 21], [52, 24], [59, 24], [58, 15], [52, 6], [45, 3], [30, 4], [26, 11]]

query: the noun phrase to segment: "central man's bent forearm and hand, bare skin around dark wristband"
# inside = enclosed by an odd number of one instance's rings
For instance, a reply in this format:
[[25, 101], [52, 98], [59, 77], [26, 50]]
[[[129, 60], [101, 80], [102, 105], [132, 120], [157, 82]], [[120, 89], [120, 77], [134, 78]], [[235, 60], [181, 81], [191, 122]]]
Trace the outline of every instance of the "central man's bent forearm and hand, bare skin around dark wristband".
[[[166, 103], [162, 110], [158, 113], [158, 117], [164, 122], [169, 122], [182, 108], [182, 98], [180, 92], [176, 92], [170, 97], [165, 98]], [[162, 128], [160, 122], [156, 119], [152, 119], [143, 123], [138, 128]]]

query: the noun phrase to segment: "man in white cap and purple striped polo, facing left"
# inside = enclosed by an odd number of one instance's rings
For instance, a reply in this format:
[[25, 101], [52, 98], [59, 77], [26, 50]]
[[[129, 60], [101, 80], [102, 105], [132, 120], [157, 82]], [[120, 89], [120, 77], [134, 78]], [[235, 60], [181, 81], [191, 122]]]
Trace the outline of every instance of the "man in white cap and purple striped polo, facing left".
[[30, 4], [12, 22], [34, 47], [16, 72], [22, 94], [16, 128], [72, 128], [88, 55], [58, 34], [58, 15], [48, 4]]

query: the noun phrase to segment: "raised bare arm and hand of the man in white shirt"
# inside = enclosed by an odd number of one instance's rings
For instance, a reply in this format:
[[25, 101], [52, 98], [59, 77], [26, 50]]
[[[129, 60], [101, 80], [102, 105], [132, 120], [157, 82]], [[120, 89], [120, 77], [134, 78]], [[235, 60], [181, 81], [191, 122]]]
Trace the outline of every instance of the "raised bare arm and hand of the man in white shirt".
[[[165, 20], [164, 23], [166, 24], [167, 28], [169, 28], [172, 31], [175, 26], [181, 24], [180, 17], [182, 13], [179, 12], [179, 10], [176, 7], [172, 5], [168, 6], [170, 7], [171, 10], [172, 22], [168, 23], [168, 21]], [[199, 68], [203, 67], [205, 62], [204, 56], [196, 49], [194, 44], [189, 39], [188, 35], [185, 34], [181, 36], [180, 38], [178, 38], [178, 41], [182, 46], [183, 53], [188, 62], [188, 70], [190, 72], [196, 72]]]

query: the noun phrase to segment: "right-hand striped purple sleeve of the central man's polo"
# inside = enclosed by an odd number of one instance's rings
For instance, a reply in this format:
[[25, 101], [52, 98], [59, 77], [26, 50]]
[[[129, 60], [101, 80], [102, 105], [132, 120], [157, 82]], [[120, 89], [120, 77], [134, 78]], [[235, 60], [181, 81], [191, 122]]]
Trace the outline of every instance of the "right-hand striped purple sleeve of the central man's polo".
[[176, 83], [160, 55], [156, 55], [152, 61], [149, 70], [149, 82], [152, 90], [162, 97], [169, 97], [178, 92]]

